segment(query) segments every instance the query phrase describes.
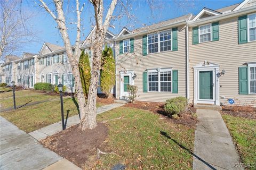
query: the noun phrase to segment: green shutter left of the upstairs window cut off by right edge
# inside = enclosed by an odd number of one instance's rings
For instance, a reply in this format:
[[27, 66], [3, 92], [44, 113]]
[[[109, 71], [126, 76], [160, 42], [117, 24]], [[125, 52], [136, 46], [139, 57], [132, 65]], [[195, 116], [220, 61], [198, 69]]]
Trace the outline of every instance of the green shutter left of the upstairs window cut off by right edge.
[[247, 43], [247, 15], [238, 18], [238, 44]]

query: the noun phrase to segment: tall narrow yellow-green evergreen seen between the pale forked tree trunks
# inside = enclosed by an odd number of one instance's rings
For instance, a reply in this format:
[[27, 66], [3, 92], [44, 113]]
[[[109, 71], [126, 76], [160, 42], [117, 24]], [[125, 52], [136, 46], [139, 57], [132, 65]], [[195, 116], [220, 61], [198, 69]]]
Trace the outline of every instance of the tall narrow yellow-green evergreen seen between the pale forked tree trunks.
[[85, 54], [84, 50], [80, 55], [79, 59], [79, 73], [80, 79], [83, 87], [84, 96], [88, 96], [89, 87], [90, 87], [90, 80], [91, 80], [91, 67], [89, 61], [89, 54]]

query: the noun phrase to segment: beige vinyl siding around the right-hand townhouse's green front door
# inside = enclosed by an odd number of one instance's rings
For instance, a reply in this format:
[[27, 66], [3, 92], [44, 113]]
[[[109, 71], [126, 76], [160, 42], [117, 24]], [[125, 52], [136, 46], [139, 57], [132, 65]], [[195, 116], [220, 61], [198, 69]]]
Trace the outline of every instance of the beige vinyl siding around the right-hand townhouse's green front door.
[[[220, 102], [228, 105], [228, 99], [235, 99], [235, 104], [254, 105], [256, 95], [239, 95], [238, 67], [246, 62], [256, 61], [256, 42], [238, 44], [238, 18], [230, 18], [219, 22], [219, 41], [192, 45], [192, 28], [189, 28], [189, 83], [190, 102], [194, 100], [193, 66], [204, 60], [219, 64], [220, 71], [226, 70], [219, 79]], [[225, 99], [221, 99], [225, 97]]]

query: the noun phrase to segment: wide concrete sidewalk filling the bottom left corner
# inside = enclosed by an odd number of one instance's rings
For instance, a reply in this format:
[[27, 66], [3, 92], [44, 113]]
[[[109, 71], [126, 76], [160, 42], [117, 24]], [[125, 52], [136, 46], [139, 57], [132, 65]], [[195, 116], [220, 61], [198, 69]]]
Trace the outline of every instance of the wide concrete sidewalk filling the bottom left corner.
[[[59, 161], [65, 163], [66, 168], [80, 169], [76, 165], [63, 159], [55, 152], [44, 148], [34, 138], [17, 126], [0, 116], [0, 169], [43, 169]], [[53, 166], [51, 165], [51, 166]], [[51, 167], [49, 166], [49, 167]], [[50, 168], [48, 168], [50, 169]]]

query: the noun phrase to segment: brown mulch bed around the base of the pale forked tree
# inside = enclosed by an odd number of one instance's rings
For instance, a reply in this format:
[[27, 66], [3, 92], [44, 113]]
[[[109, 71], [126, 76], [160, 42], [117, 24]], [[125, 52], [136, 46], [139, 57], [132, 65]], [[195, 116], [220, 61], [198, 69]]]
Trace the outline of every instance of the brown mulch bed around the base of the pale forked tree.
[[41, 143], [78, 167], [86, 168], [86, 162], [97, 159], [97, 148], [105, 150], [108, 128], [98, 123], [97, 128], [82, 131], [78, 126], [47, 137]]

